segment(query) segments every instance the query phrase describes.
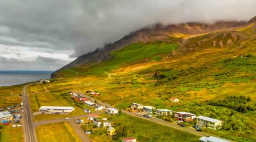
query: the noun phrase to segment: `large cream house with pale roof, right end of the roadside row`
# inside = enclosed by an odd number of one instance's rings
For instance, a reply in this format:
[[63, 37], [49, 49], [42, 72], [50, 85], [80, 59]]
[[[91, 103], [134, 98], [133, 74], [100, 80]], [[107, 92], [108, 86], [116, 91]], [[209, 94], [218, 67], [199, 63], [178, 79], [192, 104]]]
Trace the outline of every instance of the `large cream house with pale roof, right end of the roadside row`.
[[219, 127], [222, 127], [222, 121], [218, 119], [212, 119], [210, 117], [199, 116], [197, 117], [197, 125], [199, 126], [205, 125], [205, 127], [207, 128], [216, 130]]

